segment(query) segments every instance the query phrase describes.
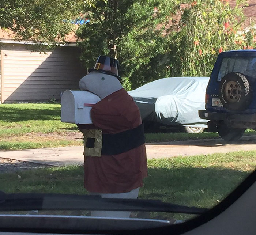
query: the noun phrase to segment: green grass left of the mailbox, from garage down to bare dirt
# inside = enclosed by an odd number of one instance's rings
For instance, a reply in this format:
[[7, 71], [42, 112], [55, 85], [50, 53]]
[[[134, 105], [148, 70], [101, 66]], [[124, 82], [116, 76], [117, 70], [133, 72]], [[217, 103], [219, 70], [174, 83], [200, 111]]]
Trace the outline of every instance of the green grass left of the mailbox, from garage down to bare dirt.
[[75, 124], [60, 121], [59, 104], [1, 104], [0, 136], [72, 130]]

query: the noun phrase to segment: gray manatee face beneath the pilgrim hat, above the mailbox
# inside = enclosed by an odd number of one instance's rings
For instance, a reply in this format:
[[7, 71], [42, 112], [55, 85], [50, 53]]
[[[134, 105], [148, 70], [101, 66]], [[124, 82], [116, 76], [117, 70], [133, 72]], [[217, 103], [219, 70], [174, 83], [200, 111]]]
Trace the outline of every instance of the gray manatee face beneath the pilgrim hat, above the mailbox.
[[90, 72], [80, 79], [79, 87], [80, 90], [90, 91], [101, 99], [123, 88], [116, 77], [97, 71]]

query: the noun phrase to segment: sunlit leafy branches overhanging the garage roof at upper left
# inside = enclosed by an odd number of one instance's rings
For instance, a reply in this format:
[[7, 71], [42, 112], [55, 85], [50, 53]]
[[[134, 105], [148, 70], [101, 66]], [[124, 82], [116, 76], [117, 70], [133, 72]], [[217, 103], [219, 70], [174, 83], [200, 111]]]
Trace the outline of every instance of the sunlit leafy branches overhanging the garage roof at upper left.
[[74, 29], [81, 6], [92, 1], [1, 0], [0, 27], [11, 30], [16, 39], [53, 43], [64, 41]]

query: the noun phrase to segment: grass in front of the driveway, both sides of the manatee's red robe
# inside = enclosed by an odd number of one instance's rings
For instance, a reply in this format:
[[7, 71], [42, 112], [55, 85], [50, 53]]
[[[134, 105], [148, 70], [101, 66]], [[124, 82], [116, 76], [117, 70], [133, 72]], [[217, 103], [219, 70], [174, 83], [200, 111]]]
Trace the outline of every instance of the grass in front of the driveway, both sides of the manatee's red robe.
[[[139, 198], [210, 208], [255, 170], [255, 155], [256, 151], [242, 151], [148, 160], [149, 175], [144, 179]], [[0, 174], [0, 188], [6, 193], [87, 193], [83, 188], [81, 166]], [[159, 213], [150, 216], [159, 216]], [[161, 218], [186, 219], [189, 216], [162, 213]]]

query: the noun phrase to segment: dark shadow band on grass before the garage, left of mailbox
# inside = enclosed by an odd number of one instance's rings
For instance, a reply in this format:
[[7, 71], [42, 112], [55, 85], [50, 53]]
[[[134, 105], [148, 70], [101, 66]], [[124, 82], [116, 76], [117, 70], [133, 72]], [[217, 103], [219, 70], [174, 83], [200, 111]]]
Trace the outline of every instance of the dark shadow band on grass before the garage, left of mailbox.
[[40, 109], [17, 109], [0, 107], [0, 120], [5, 122], [17, 122], [28, 120], [60, 120], [60, 108], [51, 107]]

